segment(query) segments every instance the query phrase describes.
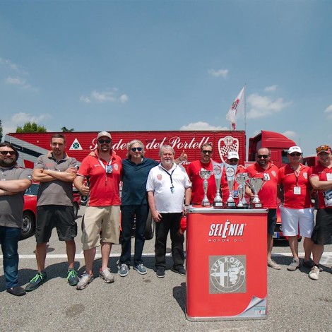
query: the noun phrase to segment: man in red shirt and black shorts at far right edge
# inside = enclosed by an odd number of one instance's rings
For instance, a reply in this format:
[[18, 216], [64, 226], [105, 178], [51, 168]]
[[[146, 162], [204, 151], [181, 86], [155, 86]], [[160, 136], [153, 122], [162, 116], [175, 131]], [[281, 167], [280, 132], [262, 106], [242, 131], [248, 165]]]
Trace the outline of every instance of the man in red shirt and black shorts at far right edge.
[[318, 164], [309, 170], [309, 182], [318, 191], [319, 206], [316, 213], [316, 225], [312, 232], [314, 246], [312, 256], [314, 266], [309, 278], [318, 280], [319, 261], [324, 252], [324, 244], [331, 244], [332, 237], [332, 155], [331, 146], [323, 144], [316, 148]]

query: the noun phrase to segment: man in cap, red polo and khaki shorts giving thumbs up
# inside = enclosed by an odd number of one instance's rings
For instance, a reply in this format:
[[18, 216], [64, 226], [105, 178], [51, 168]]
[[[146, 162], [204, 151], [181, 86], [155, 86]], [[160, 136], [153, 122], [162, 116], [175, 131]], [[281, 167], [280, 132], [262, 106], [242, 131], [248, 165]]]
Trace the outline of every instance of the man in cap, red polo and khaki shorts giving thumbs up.
[[[112, 244], [119, 244], [120, 194], [122, 173], [121, 158], [112, 151], [112, 136], [107, 131], [97, 135], [97, 149], [82, 161], [74, 181], [82, 194], [90, 194], [83, 217], [82, 243], [85, 272], [77, 284], [78, 290], [88, 287], [93, 280], [93, 261], [96, 247], [101, 243], [102, 266], [99, 276], [105, 283], [113, 283], [114, 276], [108, 268]], [[89, 178], [90, 187], [84, 185]], [[101, 239], [100, 239], [100, 230]]]

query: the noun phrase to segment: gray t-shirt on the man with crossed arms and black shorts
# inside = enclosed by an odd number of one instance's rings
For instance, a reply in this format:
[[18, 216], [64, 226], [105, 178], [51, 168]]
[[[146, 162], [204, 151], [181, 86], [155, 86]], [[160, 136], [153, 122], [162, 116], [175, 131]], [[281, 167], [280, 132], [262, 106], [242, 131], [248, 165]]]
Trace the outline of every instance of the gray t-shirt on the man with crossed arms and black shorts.
[[[64, 159], [56, 160], [47, 155], [40, 155], [37, 159], [34, 169], [38, 170], [56, 170], [65, 172], [69, 167], [75, 167], [77, 160], [64, 155]], [[61, 205], [73, 206], [73, 182], [54, 180], [50, 182], [41, 182], [37, 206], [43, 205]]]

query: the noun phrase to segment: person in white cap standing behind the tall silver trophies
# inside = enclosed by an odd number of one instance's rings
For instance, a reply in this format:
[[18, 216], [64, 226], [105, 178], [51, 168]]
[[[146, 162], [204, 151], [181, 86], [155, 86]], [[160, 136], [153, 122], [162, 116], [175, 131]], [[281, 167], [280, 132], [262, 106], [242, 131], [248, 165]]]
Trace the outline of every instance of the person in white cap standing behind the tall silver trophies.
[[[245, 168], [242, 165], [237, 165], [238, 163], [239, 163], [239, 153], [237, 153], [237, 151], [230, 151], [227, 154], [225, 167], [223, 169], [223, 176], [221, 177], [221, 182], [220, 182], [224, 206], [227, 204], [227, 199], [230, 196], [230, 189], [228, 188], [227, 174], [226, 174], [227, 167], [232, 167], [233, 169], [235, 169], [234, 179], [237, 176], [237, 174], [245, 172]], [[237, 191], [238, 187], [239, 184], [236, 181], [234, 181], [232, 196], [233, 198], [235, 198], [234, 201], [236, 205], [239, 201], [239, 194]]]

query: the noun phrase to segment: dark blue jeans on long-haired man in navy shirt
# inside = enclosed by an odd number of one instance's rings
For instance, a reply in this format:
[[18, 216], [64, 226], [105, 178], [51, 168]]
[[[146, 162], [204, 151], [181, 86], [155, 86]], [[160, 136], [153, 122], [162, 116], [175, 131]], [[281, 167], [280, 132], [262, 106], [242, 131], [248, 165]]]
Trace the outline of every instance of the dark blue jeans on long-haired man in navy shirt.
[[121, 206], [121, 257], [120, 263], [130, 265], [131, 261], [131, 230], [136, 217], [134, 264], [143, 263], [142, 252], [146, 242], [146, 218], [148, 218], [148, 204]]

